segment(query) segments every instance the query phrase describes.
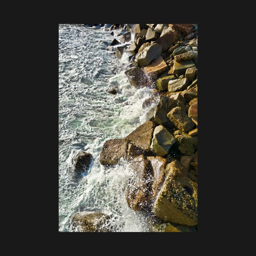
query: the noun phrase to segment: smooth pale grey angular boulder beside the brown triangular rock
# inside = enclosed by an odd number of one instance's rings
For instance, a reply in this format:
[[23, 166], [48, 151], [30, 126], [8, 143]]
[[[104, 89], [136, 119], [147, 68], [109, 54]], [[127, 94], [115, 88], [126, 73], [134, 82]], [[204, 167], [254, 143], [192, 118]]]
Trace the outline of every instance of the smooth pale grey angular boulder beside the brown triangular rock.
[[164, 126], [156, 126], [152, 143], [150, 145], [151, 151], [156, 156], [165, 156], [168, 154], [171, 146], [176, 142], [174, 136]]

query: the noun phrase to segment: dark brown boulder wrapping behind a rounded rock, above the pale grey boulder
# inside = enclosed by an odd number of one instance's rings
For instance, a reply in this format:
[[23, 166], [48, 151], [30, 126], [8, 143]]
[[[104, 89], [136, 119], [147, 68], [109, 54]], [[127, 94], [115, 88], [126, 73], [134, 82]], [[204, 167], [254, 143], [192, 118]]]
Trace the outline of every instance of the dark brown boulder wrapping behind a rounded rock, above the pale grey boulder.
[[161, 95], [159, 97], [159, 101], [155, 108], [155, 113], [154, 113], [155, 122], [169, 129], [174, 128], [174, 125], [167, 118], [167, 113], [169, 113], [171, 109], [175, 108], [176, 106], [180, 106], [184, 111], [186, 109], [186, 106], [184, 105], [183, 102]]

